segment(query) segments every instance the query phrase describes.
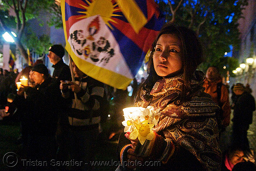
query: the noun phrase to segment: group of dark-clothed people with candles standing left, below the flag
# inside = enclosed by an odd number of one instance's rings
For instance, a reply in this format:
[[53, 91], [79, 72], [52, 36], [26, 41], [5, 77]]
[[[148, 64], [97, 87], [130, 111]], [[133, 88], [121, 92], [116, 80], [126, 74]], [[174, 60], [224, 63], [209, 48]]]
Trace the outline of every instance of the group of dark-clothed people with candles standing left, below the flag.
[[[49, 60], [53, 63], [53, 76], [48, 68], [37, 61], [34, 66], [26, 67], [18, 79], [25, 76], [28, 85], [15, 91], [11, 101], [3, 103], [2, 119], [18, 116], [21, 122], [21, 139], [24, 156], [30, 161], [82, 161], [74, 170], [91, 170], [93, 145], [97, 144], [100, 133], [101, 115], [105, 113], [108, 99], [104, 84], [82, 73], [71, 61], [74, 74], [72, 81], [70, 67], [62, 57], [65, 50], [61, 45], [49, 49]], [[15, 92], [15, 94], [14, 94]], [[8, 95], [8, 97], [9, 97]], [[5, 97], [6, 99], [7, 96]], [[11, 109], [17, 109], [11, 112]], [[26, 170], [67, 170], [47, 164], [45, 167], [26, 166]]]

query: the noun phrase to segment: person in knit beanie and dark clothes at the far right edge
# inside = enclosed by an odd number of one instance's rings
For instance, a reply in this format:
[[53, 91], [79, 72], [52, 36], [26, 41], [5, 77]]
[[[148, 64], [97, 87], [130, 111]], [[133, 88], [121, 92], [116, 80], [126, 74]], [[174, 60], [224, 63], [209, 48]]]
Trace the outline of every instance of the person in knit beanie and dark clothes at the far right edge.
[[252, 113], [255, 111], [255, 100], [250, 93], [245, 91], [245, 87], [242, 83], [235, 84], [232, 91], [237, 96], [237, 100], [234, 101], [233, 106], [232, 142], [249, 147], [247, 130], [252, 123]]

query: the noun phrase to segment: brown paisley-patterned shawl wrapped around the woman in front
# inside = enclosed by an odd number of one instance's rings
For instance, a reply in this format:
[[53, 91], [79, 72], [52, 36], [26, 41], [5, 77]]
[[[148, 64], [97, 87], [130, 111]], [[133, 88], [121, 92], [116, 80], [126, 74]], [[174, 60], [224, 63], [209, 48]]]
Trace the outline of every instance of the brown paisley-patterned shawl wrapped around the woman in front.
[[191, 92], [180, 104], [180, 94], [183, 90], [182, 75], [158, 80], [151, 90], [152, 100], [146, 101], [140, 92], [141, 101], [137, 106], [151, 105], [160, 109], [161, 117], [155, 126], [155, 132], [187, 149], [202, 163], [206, 170], [219, 170], [221, 151], [218, 143], [218, 126], [215, 111], [218, 105], [204, 93], [202, 87], [202, 72], [195, 72], [191, 81]]

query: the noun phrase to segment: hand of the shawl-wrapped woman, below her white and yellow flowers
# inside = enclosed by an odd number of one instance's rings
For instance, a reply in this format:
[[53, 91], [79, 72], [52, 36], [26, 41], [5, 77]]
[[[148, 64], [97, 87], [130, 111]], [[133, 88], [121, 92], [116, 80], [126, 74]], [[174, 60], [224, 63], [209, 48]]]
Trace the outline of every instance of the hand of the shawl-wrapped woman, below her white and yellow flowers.
[[[136, 168], [136, 166], [138, 166], [138, 161], [139, 161], [140, 163], [143, 162], [143, 158], [137, 156], [136, 153], [134, 153], [135, 148], [136, 148], [137, 144], [139, 143], [139, 140], [138, 140], [138, 138], [135, 139], [135, 140], [132, 140], [132, 139], [130, 138], [130, 134], [131, 134], [131, 132], [127, 132], [127, 133], [124, 135], [124, 136], [125, 136], [127, 139], [129, 139], [129, 140], [131, 141], [131, 143], [132, 143], [132, 148], [130, 148], [130, 149], [127, 150], [127, 153], [128, 153], [128, 154], [127, 154], [127, 158], [128, 158], [128, 161], [127, 161], [127, 162], [128, 162], [128, 163], [127, 163], [126, 167], [129, 168], [129, 169], [133, 169], [133, 168]], [[135, 163], [135, 162], [136, 162], [136, 163]]]

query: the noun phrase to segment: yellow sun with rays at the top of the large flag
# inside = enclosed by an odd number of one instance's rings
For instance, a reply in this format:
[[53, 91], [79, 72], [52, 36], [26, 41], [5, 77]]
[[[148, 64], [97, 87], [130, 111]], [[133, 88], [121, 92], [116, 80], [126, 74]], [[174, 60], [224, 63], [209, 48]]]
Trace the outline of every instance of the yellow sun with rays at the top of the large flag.
[[[113, 4], [112, 0], [92, 0], [91, 2], [86, 0], [86, 2], [89, 4], [89, 6], [82, 6], [87, 11], [77, 11], [79, 13], [85, 14], [80, 18], [88, 18], [94, 15], [100, 15], [101, 18], [104, 20], [105, 24], [109, 26], [111, 29], [113, 29], [109, 22], [115, 22], [113, 19], [113, 16], [121, 16], [118, 14], [114, 14], [117, 11], [120, 11], [120, 8], [118, 8], [118, 4]], [[96, 10], [97, 9], [97, 10]]]

